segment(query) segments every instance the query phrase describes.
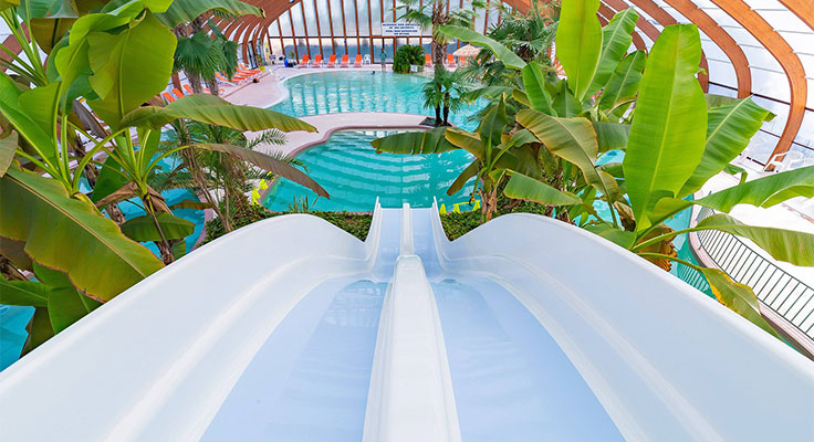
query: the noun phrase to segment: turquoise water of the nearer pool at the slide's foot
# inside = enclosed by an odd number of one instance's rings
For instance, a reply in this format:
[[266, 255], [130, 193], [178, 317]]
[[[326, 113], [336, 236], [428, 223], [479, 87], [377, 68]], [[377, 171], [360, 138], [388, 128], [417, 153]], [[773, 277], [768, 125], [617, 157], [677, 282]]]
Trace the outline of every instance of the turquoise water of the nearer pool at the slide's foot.
[[428, 208], [432, 206], [432, 197], [447, 207], [469, 200], [473, 180], [452, 197], [447, 194], [447, 189], [472, 162], [471, 154], [465, 150], [440, 155], [376, 154], [371, 141], [387, 134], [384, 130], [341, 130], [331, 135], [327, 143], [296, 156], [331, 199], [317, 199], [305, 187], [280, 179], [263, 206], [285, 211], [307, 199], [309, 210], [367, 212], [373, 210], [376, 197], [386, 208], [401, 207], [405, 202]]

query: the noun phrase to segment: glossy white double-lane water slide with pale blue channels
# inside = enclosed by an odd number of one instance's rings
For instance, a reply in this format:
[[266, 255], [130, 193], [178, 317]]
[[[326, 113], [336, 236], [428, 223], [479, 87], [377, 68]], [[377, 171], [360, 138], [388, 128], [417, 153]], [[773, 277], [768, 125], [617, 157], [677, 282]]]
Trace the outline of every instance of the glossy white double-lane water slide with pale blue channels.
[[0, 372], [2, 441], [814, 441], [814, 364], [591, 233], [294, 214]]

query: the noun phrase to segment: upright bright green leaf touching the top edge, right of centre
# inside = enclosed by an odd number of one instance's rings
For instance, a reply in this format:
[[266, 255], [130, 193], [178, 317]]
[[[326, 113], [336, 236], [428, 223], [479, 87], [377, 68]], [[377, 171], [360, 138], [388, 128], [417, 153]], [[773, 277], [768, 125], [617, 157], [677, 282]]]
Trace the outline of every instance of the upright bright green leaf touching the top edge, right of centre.
[[[562, 3], [556, 30], [556, 57], [568, 77], [577, 101], [587, 96], [602, 53], [602, 25], [596, 12], [599, 0], [567, 0]], [[561, 116], [565, 116], [560, 114]]]

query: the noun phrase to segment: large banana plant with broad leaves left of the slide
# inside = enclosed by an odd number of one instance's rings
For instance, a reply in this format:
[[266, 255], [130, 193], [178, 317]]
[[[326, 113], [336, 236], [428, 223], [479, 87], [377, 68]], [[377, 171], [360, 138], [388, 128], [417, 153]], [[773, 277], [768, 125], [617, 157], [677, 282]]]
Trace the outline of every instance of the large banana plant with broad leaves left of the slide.
[[[228, 152], [327, 196], [288, 162], [229, 144], [188, 143], [158, 152], [163, 127], [178, 119], [236, 130], [315, 130], [209, 95], [158, 105], [154, 97], [174, 62], [170, 28], [211, 9], [257, 10], [233, 0], [2, 4], [25, 56], [3, 46], [10, 59], [3, 67], [14, 75], [0, 73], [0, 303], [36, 308], [27, 351], [161, 269], [137, 241], [156, 241], [164, 261], [173, 261], [170, 241], [188, 234], [189, 224], [173, 215], [150, 180], [174, 151]], [[45, 63], [40, 51], [49, 55]], [[122, 199], [138, 201], [146, 217], [119, 228], [97, 208]], [[23, 271], [38, 282], [21, 281]]]

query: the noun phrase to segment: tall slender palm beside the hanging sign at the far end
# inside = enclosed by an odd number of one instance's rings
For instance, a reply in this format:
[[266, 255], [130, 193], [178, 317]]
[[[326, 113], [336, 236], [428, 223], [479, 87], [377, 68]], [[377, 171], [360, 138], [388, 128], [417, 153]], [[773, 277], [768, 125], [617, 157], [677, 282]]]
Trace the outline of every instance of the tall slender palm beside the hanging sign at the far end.
[[472, 9], [451, 6], [449, 0], [428, 0], [427, 2], [420, 0], [397, 0], [396, 3], [397, 6], [394, 9], [400, 13], [397, 20], [407, 20], [418, 23], [422, 28], [432, 29], [432, 63], [436, 66], [443, 64], [443, 56], [447, 54], [447, 44], [451, 41], [438, 28], [443, 24], [471, 28], [472, 21], [478, 17], [476, 10], [486, 8], [486, 3], [481, 0], [472, 1]]

